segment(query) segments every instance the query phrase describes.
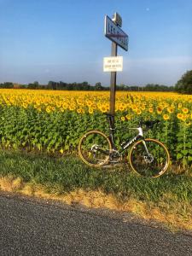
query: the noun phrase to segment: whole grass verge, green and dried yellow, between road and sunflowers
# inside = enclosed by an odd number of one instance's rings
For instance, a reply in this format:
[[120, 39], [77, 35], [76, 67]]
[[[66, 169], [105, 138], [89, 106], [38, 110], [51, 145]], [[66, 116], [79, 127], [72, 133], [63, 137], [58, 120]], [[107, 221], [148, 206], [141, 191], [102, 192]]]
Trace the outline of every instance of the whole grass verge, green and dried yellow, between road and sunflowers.
[[95, 169], [75, 156], [51, 157], [0, 149], [0, 187], [87, 207], [134, 212], [177, 228], [192, 230], [192, 177], [167, 172], [137, 177], [129, 166]]

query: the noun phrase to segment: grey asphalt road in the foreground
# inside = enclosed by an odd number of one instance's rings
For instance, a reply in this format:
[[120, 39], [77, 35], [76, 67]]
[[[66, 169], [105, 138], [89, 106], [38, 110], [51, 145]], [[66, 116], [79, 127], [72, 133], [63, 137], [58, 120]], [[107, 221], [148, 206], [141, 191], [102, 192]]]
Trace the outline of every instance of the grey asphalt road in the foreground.
[[0, 192], [0, 255], [192, 255], [192, 236], [129, 214]]

